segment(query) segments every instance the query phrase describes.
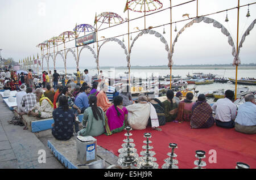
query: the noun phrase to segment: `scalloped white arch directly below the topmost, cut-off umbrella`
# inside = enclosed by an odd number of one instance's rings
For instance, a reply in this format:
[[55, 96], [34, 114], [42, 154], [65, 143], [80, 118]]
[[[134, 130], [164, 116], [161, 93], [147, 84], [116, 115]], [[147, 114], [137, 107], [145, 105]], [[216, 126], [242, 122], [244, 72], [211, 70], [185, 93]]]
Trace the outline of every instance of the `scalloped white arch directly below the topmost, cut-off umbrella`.
[[153, 31], [153, 30], [150, 30], [150, 29], [145, 29], [143, 30], [142, 32], [140, 32], [133, 40], [133, 43], [131, 43], [131, 46], [130, 46], [130, 52], [129, 54], [127, 55], [127, 62], [128, 62], [128, 65], [127, 67], [131, 67], [131, 64], [130, 64], [130, 55], [131, 55], [131, 49], [133, 48], [133, 45], [134, 45], [134, 42], [139, 38], [141, 37], [142, 35], [145, 35], [145, 34], [150, 34], [150, 35], [155, 35], [155, 37], [158, 37], [160, 38], [160, 41], [163, 42], [163, 44], [165, 45], [165, 49], [168, 53], [168, 66], [172, 66], [172, 59], [170, 57], [170, 48], [168, 46], [168, 43], [166, 41], [166, 39], [159, 33], [159, 32], [156, 32], [156, 31]]

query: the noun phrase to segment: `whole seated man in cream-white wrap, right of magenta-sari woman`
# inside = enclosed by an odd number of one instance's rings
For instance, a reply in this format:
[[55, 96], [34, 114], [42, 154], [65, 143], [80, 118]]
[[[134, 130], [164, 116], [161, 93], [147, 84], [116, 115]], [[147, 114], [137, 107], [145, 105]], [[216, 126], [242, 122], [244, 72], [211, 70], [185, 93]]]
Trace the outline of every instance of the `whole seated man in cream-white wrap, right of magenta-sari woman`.
[[128, 110], [128, 125], [134, 130], [143, 130], [148, 125], [150, 117], [151, 127], [155, 130], [161, 131], [159, 128], [158, 115], [151, 103], [147, 102], [146, 96], [139, 96], [138, 103], [126, 106]]

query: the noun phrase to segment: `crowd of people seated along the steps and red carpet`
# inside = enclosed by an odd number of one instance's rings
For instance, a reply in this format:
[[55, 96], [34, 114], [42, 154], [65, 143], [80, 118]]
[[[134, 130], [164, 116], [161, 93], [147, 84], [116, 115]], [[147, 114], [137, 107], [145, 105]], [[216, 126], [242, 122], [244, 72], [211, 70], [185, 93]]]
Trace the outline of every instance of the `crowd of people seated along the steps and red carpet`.
[[[19, 76], [14, 75], [14, 79], [17, 78]], [[6, 84], [11, 88], [10, 83]], [[51, 84], [46, 84], [45, 92], [42, 88], [36, 88], [34, 93], [31, 85], [22, 83], [19, 86], [16, 95], [18, 113], [20, 116], [28, 114], [37, 118], [53, 117], [52, 135], [59, 140], [68, 140], [72, 135], [112, 135], [128, 125], [133, 130], [151, 127], [162, 131], [160, 126], [172, 122], [188, 122], [191, 128], [210, 128], [215, 123], [218, 127], [234, 128], [245, 134], [256, 133], [253, 94], [246, 95], [245, 104], [237, 109], [232, 101], [234, 92], [230, 90], [225, 91], [225, 98], [219, 99], [211, 107], [203, 94], [193, 100], [194, 96], [189, 92], [183, 99], [181, 92], [175, 95], [171, 89], [166, 92], [167, 100], [163, 102], [151, 94], [140, 95], [138, 101], [133, 101], [131, 88], [123, 85], [118, 93], [119, 89], [116, 88], [113, 102], [110, 102], [106, 95], [108, 85], [104, 81], [83, 83], [80, 87], [80, 83], [74, 85], [71, 80], [65, 86], [55, 83], [56, 89]], [[82, 123], [77, 121], [81, 113]]]

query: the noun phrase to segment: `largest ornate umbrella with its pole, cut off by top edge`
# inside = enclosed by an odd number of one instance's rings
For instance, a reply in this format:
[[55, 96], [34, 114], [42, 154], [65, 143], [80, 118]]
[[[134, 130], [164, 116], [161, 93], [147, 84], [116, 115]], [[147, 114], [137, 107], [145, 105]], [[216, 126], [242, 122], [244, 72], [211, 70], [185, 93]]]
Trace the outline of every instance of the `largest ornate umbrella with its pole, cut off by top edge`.
[[159, 10], [163, 7], [159, 0], [131, 0], [126, 4], [127, 9], [135, 12], [144, 12], [144, 28], [146, 29], [146, 12]]

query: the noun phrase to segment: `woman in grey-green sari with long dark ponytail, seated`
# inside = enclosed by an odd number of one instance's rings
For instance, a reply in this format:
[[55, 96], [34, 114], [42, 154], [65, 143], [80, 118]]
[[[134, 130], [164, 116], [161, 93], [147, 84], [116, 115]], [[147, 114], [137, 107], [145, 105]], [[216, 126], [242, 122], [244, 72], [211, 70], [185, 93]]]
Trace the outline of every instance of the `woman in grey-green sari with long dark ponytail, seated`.
[[78, 132], [80, 136], [99, 136], [105, 132], [105, 113], [97, 106], [96, 96], [89, 98], [89, 108], [84, 111], [82, 119], [82, 130]]

